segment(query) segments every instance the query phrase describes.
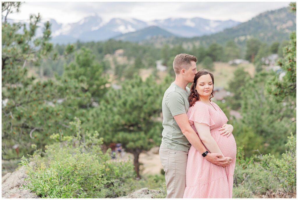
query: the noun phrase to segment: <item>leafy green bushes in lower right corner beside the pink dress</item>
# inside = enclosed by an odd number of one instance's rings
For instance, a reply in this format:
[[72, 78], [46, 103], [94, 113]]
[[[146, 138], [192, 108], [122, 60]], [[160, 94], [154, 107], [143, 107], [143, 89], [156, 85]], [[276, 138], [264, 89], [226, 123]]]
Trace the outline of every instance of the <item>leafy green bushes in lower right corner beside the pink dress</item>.
[[296, 138], [288, 138], [282, 159], [270, 154], [244, 159], [243, 147], [237, 148], [233, 198], [268, 197], [276, 191], [284, 192], [281, 197], [296, 196]]

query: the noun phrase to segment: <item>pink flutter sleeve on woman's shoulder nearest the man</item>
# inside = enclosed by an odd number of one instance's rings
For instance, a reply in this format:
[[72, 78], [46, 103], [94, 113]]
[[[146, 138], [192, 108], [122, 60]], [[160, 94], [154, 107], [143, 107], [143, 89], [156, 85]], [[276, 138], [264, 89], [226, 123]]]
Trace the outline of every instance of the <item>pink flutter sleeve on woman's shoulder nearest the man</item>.
[[209, 114], [209, 109], [207, 105], [198, 102], [195, 103], [193, 105], [193, 108], [191, 108], [189, 111], [190, 112], [188, 121], [190, 122], [190, 124], [194, 124], [194, 122], [204, 123], [208, 126], [213, 126], [215, 124]]

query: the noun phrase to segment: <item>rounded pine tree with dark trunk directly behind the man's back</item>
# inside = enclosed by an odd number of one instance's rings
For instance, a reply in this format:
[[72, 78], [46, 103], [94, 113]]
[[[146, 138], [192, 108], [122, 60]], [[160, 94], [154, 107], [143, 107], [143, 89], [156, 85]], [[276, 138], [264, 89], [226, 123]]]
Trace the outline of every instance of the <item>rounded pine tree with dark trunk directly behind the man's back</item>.
[[124, 81], [121, 89], [111, 89], [106, 98], [91, 112], [90, 127], [99, 130], [105, 143], [122, 143], [125, 151], [134, 154], [139, 177], [139, 154], [160, 144], [161, 113], [164, 86], [152, 76], [142, 81], [140, 76]]

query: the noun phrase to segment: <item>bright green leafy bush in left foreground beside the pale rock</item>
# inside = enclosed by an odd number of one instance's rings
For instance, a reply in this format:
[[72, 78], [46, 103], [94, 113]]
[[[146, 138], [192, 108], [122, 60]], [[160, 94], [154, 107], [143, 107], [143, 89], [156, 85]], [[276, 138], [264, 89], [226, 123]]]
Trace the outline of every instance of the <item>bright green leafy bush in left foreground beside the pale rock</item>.
[[132, 163], [111, 160], [110, 150], [101, 151], [98, 132], [83, 134], [78, 119], [72, 125], [76, 136], [53, 134], [56, 143], [31, 156], [35, 166], [22, 158], [29, 180], [24, 187], [42, 198], [115, 198], [131, 192], [126, 185], [135, 177]]

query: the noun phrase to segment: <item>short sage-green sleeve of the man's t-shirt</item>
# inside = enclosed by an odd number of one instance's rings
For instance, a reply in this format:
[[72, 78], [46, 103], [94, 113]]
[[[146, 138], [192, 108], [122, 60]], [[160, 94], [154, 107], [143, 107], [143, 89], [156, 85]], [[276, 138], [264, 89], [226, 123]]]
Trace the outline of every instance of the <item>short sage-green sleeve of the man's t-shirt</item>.
[[186, 113], [185, 102], [182, 96], [177, 92], [171, 92], [165, 98], [165, 104], [173, 116]]

